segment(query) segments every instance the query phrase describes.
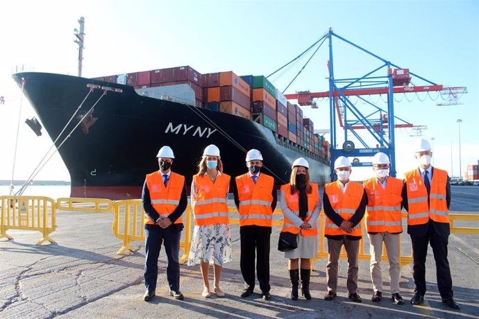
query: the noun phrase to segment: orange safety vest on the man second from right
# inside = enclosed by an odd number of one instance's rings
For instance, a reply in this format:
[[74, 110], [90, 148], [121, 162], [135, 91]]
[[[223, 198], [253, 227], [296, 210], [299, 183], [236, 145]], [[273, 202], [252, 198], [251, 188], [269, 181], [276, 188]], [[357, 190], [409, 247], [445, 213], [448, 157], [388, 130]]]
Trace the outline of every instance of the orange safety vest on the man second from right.
[[386, 188], [383, 189], [378, 178], [364, 181], [368, 205], [366, 207], [367, 232], [403, 232], [401, 216], [401, 191], [403, 181], [397, 178], [387, 178]]

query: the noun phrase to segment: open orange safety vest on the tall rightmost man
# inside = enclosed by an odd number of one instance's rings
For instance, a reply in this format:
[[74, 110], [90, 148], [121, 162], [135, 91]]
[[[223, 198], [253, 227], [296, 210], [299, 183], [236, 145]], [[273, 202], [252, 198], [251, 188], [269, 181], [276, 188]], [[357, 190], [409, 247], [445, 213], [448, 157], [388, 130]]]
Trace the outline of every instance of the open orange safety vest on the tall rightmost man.
[[447, 172], [434, 169], [429, 194], [424, 186], [419, 169], [404, 174], [407, 189], [407, 225], [423, 225], [429, 218], [438, 223], [449, 223], [449, 209], [446, 202]]

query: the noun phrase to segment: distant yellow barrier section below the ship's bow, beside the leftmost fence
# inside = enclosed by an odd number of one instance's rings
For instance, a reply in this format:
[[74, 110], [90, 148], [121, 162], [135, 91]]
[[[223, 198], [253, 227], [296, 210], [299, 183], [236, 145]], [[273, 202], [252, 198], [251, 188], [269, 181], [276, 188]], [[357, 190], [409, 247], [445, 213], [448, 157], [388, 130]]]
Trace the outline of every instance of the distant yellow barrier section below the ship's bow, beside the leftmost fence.
[[62, 197], [56, 200], [56, 208], [69, 212], [112, 213], [115, 212], [115, 200]]

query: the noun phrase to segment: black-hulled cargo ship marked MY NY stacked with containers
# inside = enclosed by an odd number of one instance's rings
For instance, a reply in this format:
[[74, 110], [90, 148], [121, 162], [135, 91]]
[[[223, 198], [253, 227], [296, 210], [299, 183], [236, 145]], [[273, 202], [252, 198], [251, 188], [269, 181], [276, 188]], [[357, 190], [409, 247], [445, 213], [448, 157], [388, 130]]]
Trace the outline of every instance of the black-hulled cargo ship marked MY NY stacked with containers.
[[101, 78], [13, 75], [57, 141], [71, 197], [141, 198], [145, 174], [158, 170], [156, 153], [163, 145], [174, 150], [172, 169], [185, 175], [187, 185], [209, 144], [219, 147], [224, 172], [233, 177], [247, 171], [246, 152], [257, 148], [262, 171], [278, 185], [289, 181], [297, 157], [308, 160], [312, 182], [329, 182], [328, 150], [312, 122], [284, 96], [278, 100], [266, 78], [171, 69], [178, 70], [176, 77], [169, 78], [168, 69]]

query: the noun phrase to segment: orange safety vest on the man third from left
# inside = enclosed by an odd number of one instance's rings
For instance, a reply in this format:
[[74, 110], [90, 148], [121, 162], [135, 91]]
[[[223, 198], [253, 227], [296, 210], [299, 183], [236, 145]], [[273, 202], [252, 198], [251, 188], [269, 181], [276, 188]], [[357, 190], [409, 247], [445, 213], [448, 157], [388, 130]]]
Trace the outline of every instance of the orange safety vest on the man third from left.
[[260, 173], [256, 184], [249, 173], [237, 176], [236, 187], [240, 199], [240, 226], [258, 225], [271, 227], [273, 225], [274, 178]]

